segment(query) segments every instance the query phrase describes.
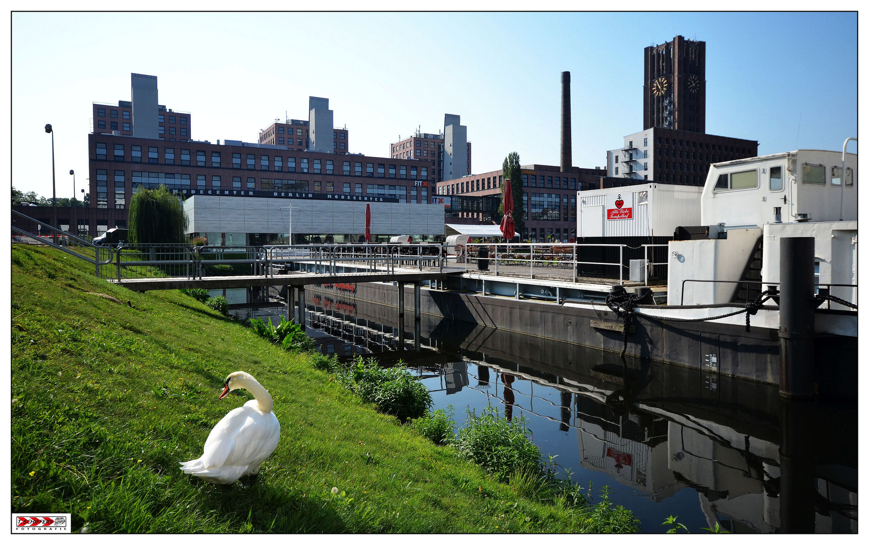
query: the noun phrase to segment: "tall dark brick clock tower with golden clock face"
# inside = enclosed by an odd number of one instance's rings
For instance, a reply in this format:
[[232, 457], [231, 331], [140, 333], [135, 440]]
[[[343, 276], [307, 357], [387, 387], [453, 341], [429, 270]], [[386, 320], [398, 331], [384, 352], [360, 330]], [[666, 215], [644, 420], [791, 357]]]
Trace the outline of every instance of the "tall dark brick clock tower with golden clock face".
[[706, 42], [676, 36], [644, 56], [643, 129], [706, 133]]

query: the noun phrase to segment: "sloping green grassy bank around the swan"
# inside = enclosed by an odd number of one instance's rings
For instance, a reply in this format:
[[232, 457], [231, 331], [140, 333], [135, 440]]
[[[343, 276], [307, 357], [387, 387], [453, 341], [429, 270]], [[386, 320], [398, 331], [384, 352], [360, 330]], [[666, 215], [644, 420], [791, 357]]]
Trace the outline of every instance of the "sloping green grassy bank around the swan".
[[[90, 532], [581, 532], [565, 509], [497, 483], [363, 404], [312, 356], [271, 345], [180, 292], [136, 293], [47, 248], [13, 245], [12, 510]], [[209, 430], [275, 400], [281, 443], [249, 488], [185, 476]], [[338, 493], [333, 493], [333, 487]]]

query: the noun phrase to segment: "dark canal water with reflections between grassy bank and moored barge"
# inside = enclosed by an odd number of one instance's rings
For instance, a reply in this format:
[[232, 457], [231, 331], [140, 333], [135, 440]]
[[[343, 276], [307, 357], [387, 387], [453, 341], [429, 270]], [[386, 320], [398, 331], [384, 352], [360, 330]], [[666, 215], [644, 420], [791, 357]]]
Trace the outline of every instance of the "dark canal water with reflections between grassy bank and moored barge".
[[789, 402], [775, 386], [434, 317], [423, 317], [421, 351], [397, 352], [395, 309], [336, 308], [308, 307], [324, 353], [401, 358], [458, 426], [488, 405], [524, 418], [544, 459], [595, 498], [609, 487], [641, 532], [666, 531], [670, 515], [692, 533], [716, 522], [733, 533], [857, 532], [855, 404]]

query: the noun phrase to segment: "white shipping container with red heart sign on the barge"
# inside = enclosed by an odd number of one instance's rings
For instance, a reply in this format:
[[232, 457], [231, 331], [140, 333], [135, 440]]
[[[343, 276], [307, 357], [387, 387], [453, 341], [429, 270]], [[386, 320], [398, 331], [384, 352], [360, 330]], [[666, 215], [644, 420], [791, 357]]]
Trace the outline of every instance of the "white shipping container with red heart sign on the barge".
[[642, 184], [578, 191], [578, 237], [665, 237], [700, 225], [703, 187]]

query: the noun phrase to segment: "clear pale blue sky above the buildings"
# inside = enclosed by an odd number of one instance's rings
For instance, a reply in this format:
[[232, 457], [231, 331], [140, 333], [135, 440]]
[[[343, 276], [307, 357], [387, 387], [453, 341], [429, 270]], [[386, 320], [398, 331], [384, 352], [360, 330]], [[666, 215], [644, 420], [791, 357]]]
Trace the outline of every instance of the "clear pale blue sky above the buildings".
[[[558, 164], [561, 71], [572, 76], [573, 161], [603, 167], [642, 129], [643, 48], [706, 42], [706, 132], [760, 154], [841, 149], [857, 132], [854, 13], [16, 13], [13, 185], [86, 187], [91, 102], [129, 100], [157, 76], [160, 103], [192, 113], [196, 140], [256, 141], [324, 96], [350, 151], [376, 156], [459, 114], [475, 173], [509, 152]], [[798, 136], [799, 133], [799, 136]]]

